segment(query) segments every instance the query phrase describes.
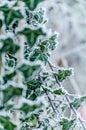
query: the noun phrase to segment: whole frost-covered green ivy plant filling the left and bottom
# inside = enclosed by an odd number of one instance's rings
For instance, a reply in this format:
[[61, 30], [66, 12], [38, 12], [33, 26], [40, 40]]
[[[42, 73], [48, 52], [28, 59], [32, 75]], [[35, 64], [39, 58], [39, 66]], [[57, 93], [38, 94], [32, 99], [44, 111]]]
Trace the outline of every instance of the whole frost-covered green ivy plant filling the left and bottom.
[[0, 130], [86, 130], [77, 113], [86, 97], [61, 84], [72, 69], [49, 61], [57, 34], [46, 30], [41, 1], [0, 4]]

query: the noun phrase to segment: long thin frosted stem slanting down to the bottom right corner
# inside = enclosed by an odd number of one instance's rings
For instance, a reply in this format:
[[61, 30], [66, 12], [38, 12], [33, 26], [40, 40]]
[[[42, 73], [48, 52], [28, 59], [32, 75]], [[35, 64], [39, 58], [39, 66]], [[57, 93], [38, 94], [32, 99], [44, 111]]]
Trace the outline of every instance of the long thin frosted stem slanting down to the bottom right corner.
[[[52, 65], [51, 65], [51, 63], [50, 63], [49, 61], [48, 61], [48, 64], [49, 64], [49, 66], [50, 66], [50, 68], [51, 68], [51, 70], [52, 70], [52, 72], [53, 72], [53, 71], [54, 71], [54, 70], [53, 70], [53, 67], [52, 67]], [[54, 78], [55, 78], [55, 80], [56, 80], [56, 83], [57, 83], [58, 87], [59, 87], [59, 88], [62, 88], [61, 83], [57, 80], [56, 75], [55, 75], [54, 73], [53, 73], [53, 76], [54, 76]], [[80, 124], [82, 125], [83, 130], [86, 130], [86, 127], [85, 127], [85, 125], [84, 125], [82, 119], [79, 117], [79, 115], [78, 115], [76, 109], [73, 107], [73, 105], [71, 105], [71, 100], [70, 100], [70, 98], [69, 98], [69, 95], [68, 95], [67, 93], [65, 93], [64, 96], [65, 96], [65, 98], [66, 98], [66, 101], [67, 101], [68, 104], [69, 104], [69, 107], [70, 107], [71, 111], [74, 113], [74, 115], [77, 117], [78, 121], [79, 121]]]

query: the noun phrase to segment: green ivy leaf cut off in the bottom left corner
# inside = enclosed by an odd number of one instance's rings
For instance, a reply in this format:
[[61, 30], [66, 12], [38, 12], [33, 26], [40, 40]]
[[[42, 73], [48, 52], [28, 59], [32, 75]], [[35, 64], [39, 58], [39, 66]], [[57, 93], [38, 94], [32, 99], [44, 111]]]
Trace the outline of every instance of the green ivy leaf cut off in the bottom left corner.
[[0, 124], [3, 125], [5, 130], [15, 130], [16, 125], [14, 125], [9, 117], [0, 116]]

